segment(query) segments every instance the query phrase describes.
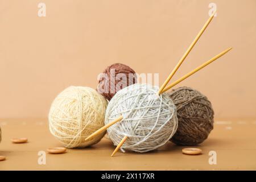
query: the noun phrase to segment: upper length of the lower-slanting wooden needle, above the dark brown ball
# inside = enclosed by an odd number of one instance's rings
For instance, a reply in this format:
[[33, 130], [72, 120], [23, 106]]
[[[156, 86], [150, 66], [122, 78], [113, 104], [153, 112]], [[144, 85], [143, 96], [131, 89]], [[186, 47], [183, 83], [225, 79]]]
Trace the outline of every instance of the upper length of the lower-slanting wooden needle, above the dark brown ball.
[[217, 60], [221, 56], [225, 55], [225, 53], [229, 52], [231, 49], [232, 49], [232, 47], [226, 49], [225, 51], [219, 53], [217, 56], [214, 56], [212, 59], [210, 59], [209, 61], [207, 61], [204, 64], [200, 65], [199, 67], [197, 67], [193, 71], [189, 72], [187, 75], [184, 75], [183, 77], [179, 78], [177, 81], [173, 82], [171, 85], [169, 85], [165, 89], [163, 89], [163, 92], [161, 92], [161, 94], [166, 92], [167, 90], [171, 89], [173, 86], [179, 84], [179, 82], [185, 80], [187, 77], [189, 77], [189, 76], [193, 75], [194, 73], [198, 72], [200, 69], [206, 67], [208, 64], [210, 64], [213, 61]]

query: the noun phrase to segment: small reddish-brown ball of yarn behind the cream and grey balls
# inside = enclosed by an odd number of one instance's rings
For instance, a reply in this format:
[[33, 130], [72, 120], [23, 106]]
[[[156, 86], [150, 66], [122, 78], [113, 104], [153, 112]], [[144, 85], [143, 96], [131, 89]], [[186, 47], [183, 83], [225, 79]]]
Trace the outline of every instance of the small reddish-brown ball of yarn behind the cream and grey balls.
[[101, 73], [97, 90], [107, 100], [111, 100], [119, 90], [135, 83], [137, 83], [135, 71], [125, 64], [115, 63]]

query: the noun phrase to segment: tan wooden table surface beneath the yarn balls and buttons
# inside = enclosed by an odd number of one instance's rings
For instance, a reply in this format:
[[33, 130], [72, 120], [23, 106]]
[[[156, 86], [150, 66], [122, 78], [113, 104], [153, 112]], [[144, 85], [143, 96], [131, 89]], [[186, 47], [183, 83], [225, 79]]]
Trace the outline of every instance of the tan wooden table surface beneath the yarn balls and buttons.
[[[157, 151], [117, 154], [112, 142], [83, 149], [68, 149], [65, 154], [46, 152], [46, 164], [39, 164], [39, 151], [61, 146], [48, 130], [47, 119], [0, 119], [2, 142], [0, 170], [221, 170], [256, 169], [256, 119], [215, 119], [209, 138], [197, 146], [202, 155], [181, 154], [182, 146], [168, 142]], [[28, 138], [28, 143], [13, 144], [11, 138]], [[209, 164], [209, 152], [216, 152], [217, 164]]]

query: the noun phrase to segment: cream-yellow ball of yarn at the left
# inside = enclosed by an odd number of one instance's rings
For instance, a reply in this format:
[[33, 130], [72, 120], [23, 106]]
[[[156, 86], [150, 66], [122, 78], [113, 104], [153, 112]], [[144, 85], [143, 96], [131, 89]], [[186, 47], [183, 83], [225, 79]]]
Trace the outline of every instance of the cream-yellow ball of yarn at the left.
[[85, 142], [85, 138], [104, 126], [108, 102], [89, 87], [70, 86], [52, 102], [49, 130], [65, 147], [86, 147], [98, 143], [105, 133]]

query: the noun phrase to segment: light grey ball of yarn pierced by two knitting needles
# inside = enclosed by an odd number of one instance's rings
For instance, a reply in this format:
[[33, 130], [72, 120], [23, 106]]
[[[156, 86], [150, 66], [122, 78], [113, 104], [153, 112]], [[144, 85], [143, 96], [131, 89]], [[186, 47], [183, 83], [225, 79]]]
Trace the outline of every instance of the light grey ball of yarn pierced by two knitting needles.
[[176, 107], [168, 94], [148, 84], [134, 84], [119, 90], [110, 100], [105, 125], [123, 116], [122, 121], [108, 128], [115, 146], [127, 136], [123, 152], [147, 152], [163, 146], [177, 129]]

